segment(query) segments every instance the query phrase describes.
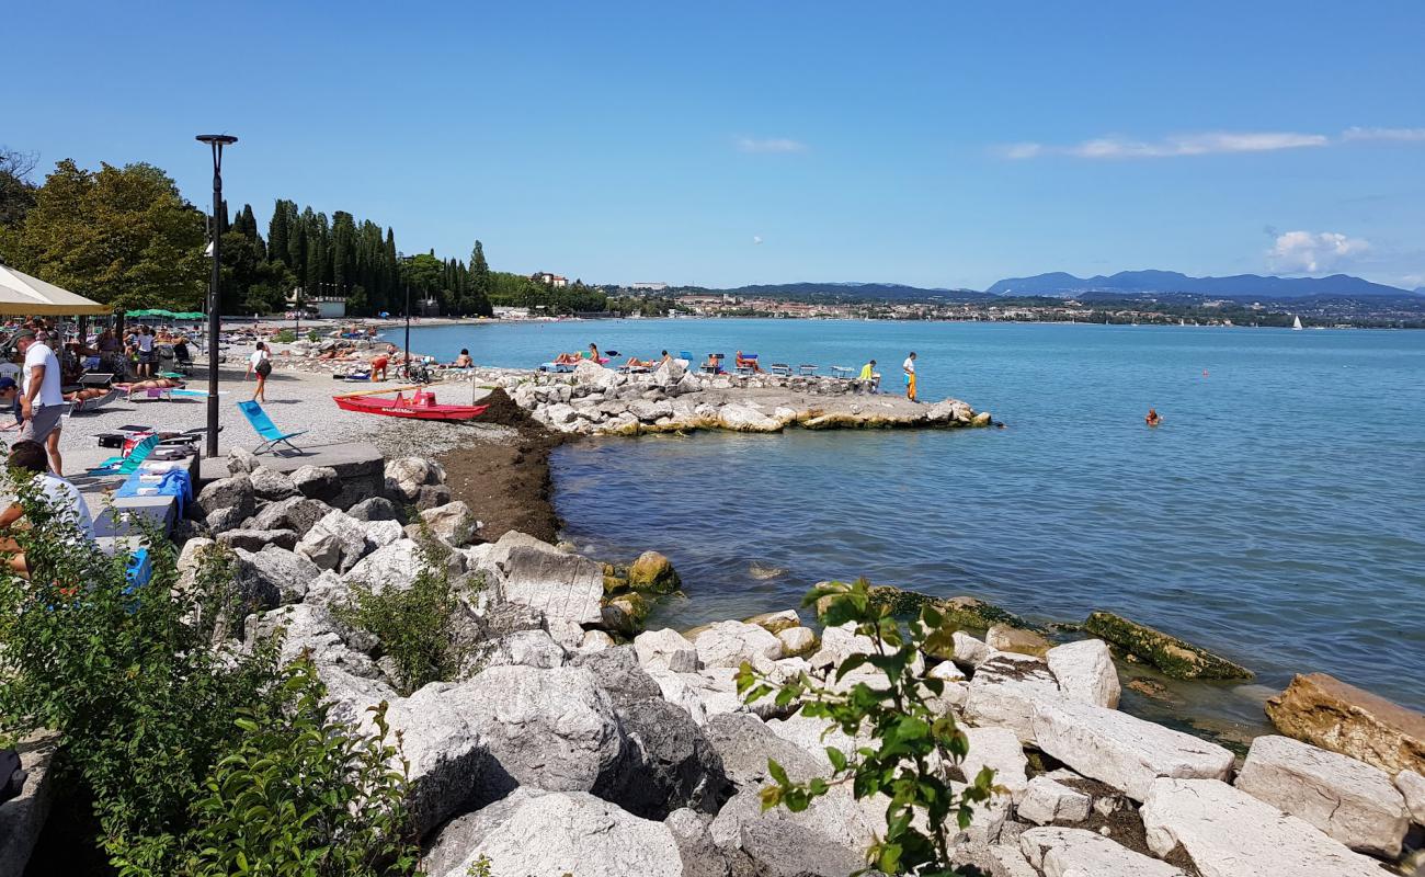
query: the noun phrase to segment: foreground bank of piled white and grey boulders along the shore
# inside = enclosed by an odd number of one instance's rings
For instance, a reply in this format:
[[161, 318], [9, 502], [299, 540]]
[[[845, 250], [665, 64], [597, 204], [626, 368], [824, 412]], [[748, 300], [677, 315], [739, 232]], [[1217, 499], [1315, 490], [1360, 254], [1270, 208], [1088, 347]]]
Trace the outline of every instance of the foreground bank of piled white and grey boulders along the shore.
[[[808, 780], [831, 771], [828, 746], [864, 737], [828, 730], [795, 700], [747, 704], [735, 687], [742, 663], [841, 690], [875, 684], [866, 665], [835, 679], [874, 649], [852, 629], [818, 635], [779, 612], [630, 637], [610, 595], [678, 588], [658, 556], [618, 568], [517, 532], [480, 543], [460, 503], [439, 502], [440, 472], [423, 461], [392, 461], [386, 495], [349, 509], [326, 505], [321, 472], [284, 481], [245, 462], [198, 501], [239, 559], [251, 612], [232, 635], [281, 635], [285, 655], [308, 652], [342, 716], [389, 704], [433, 877], [463, 877], [482, 858], [500, 877], [842, 877], [885, 831], [885, 800], [845, 784], [799, 813], [762, 811], [768, 759]], [[219, 496], [244, 513], [224, 515]], [[402, 515], [420, 520], [403, 526]], [[184, 569], [211, 546], [190, 539]], [[432, 558], [472, 650], [409, 690], [341, 607], [359, 589], [413, 588]], [[1217, 744], [1119, 712], [1103, 640], [959, 632], [915, 669], [945, 683], [935, 709], [966, 727], [969, 756], [948, 779], [995, 771], [1000, 793], [955, 841], [959, 861], [990, 874], [1379, 877], [1421, 819], [1418, 777], [1287, 739], [1264, 739], [1237, 770]]]

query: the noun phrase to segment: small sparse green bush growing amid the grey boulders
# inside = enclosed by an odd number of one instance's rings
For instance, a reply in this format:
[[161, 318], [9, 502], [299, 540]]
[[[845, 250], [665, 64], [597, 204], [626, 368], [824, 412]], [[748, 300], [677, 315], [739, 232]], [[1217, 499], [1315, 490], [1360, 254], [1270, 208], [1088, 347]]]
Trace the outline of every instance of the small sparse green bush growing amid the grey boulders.
[[396, 690], [410, 694], [430, 682], [450, 682], [470, 653], [456, 629], [460, 599], [450, 583], [450, 549], [420, 539], [420, 569], [406, 590], [358, 583], [353, 599], [336, 606], [342, 623], [373, 633], [380, 655], [396, 665]]

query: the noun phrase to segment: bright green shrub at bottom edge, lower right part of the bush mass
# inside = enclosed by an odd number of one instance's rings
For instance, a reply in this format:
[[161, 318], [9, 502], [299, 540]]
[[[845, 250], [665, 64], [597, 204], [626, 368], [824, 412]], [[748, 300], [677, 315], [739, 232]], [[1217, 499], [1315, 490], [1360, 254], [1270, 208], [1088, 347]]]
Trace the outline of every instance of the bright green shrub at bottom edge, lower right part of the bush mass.
[[239, 710], [237, 747], [192, 807], [182, 874], [191, 877], [392, 877], [412, 874], [419, 847], [406, 801], [408, 763], [370, 707], [375, 730], [331, 717], [308, 657], [284, 670], [258, 706]]

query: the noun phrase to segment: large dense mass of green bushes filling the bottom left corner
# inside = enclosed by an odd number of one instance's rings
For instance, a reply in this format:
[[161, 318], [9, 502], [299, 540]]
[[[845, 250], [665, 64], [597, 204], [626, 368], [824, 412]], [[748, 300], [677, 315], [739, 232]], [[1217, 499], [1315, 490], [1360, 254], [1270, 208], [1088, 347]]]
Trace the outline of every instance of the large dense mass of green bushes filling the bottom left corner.
[[[238, 853], [258, 867], [259, 847], [265, 874], [413, 870], [405, 780], [378, 770], [393, 754], [385, 730], [331, 722], [311, 666], [279, 673], [275, 643], [225, 637], [244, 610], [228, 552], [180, 586], [172, 546], [150, 536], [152, 578], [131, 589], [125, 555], [105, 558], [30, 479], [11, 486], [33, 526], [14, 530], [30, 579], [0, 565], [0, 743], [58, 732], [56, 764], [93, 803], [117, 873], [225, 874]], [[214, 800], [259, 777], [294, 820], [264, 821], [258, 803], [217, 817]], [[312, 866], [358, 860], [369, 870]]]

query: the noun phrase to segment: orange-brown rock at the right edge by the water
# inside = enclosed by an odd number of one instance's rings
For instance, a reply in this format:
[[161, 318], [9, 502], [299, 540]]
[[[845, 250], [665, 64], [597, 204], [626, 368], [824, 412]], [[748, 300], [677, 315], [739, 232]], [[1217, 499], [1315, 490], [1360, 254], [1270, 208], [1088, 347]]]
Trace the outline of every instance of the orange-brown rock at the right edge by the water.
[[1325, 673], [1297, 676], [1267, 700], [1281, 733], [1375, 764], [1425, 773], [1425, 716]]

